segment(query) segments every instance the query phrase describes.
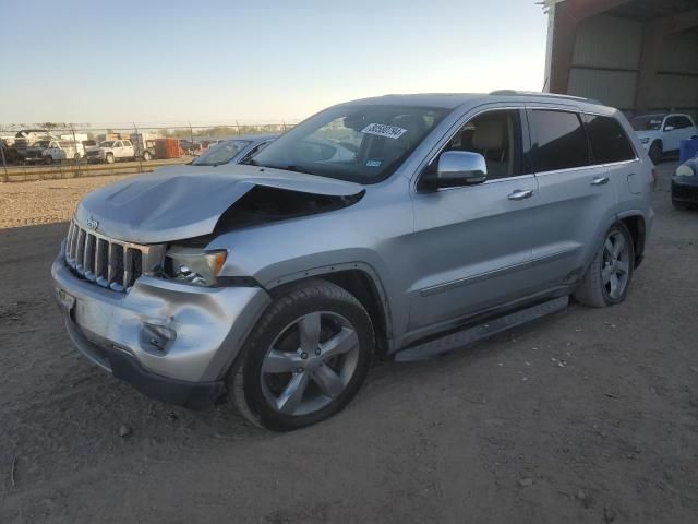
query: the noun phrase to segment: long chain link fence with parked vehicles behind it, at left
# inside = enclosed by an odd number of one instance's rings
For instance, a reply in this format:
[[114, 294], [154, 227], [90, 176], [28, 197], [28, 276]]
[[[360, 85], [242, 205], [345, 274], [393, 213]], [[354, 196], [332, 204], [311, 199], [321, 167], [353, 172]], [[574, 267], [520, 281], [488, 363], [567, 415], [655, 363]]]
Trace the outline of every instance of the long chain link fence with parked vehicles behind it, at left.
[[[148, 172], [224, 140], [280, 134], [294, 122], [0, 124], [2, 181]], [[101, 145], [109, 154], [99, 154]]]

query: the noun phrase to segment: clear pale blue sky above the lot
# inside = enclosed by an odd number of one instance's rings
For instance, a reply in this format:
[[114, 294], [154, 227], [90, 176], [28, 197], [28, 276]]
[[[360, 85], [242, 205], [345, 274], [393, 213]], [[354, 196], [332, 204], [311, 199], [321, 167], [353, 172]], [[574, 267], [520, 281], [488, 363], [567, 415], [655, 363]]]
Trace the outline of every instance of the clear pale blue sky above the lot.
[[298, 121], [388, 93], [541, 91], [534, 0], [0, 0], [0, 124]]

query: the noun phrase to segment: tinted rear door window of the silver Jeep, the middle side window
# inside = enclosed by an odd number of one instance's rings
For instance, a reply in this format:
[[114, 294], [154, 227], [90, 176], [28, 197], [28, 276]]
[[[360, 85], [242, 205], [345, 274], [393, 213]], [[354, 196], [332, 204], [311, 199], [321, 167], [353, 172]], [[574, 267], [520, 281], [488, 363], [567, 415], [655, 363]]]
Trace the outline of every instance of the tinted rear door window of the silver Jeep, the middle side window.
[[589, 165], [587, 133], [576, 112], [535, 109], [529, 118], [537, 171]]

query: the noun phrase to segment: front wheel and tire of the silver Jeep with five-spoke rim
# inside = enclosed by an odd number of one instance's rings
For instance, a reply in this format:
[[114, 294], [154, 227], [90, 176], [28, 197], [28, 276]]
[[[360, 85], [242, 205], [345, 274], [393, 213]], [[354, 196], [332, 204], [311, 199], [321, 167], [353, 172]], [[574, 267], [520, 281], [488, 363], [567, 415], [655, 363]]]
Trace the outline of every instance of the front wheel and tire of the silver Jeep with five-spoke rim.
[[329, 282], [306, 282], [264, 312], [228, 373], [228, 391], [254, 425], [299, 429], [354, 397], [373, 348], [373, 324], [359, 300]]

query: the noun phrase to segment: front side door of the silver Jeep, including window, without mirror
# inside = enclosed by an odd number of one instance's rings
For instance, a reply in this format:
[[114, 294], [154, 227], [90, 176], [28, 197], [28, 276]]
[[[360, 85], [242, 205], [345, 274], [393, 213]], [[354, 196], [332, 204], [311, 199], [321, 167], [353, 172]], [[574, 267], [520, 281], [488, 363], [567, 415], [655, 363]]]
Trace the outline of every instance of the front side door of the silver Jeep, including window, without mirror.
[[[457, 322], [526, 295], [538, 182], [524, 169], [521, 111], [469, 120], [442, 151], [485, 157], [488, 180], [413, 196], [410, 330]], [[426, 170], [436, 169], [438, 155]]]

